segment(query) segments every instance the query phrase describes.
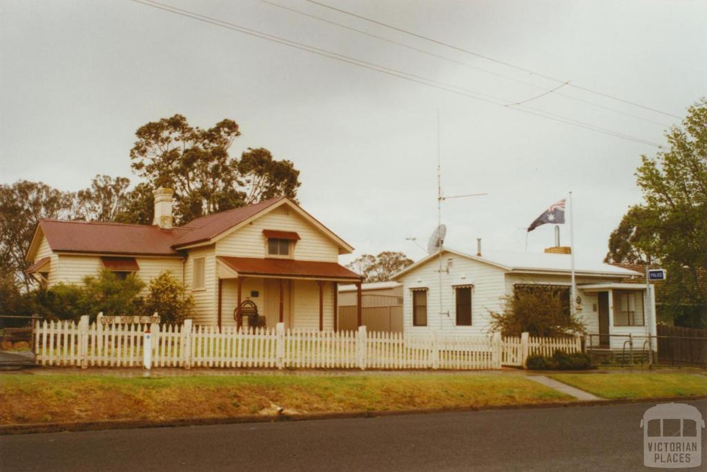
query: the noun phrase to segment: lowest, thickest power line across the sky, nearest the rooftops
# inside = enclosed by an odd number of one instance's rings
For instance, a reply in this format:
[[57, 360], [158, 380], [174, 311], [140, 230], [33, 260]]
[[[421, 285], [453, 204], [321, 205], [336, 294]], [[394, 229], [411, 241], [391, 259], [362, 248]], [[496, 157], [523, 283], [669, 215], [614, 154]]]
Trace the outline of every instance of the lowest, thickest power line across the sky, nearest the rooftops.
[[[153, 8], [158, 8], [160, 10], [167, 11], [169, 13], [175, 13], [176, 15], [185, 16], [187, 18], [192, 18], [197, 21], [202, 21], [204, 23], [210, 23], [212, 25], [216, 25], [221, 28], [226, 28], [228, 30], [234, 30], [239, 33], [255, 36], [256, 38], [269, 40], [272, 42], [277, 42], [281, 45], [293, 47], [298, 50], [312, 52], [313, 54], [318, 54], [323, 57], [329, 57], [330, 59], [336, 59], [341, 62], [346, 62], [348, 64], [353, 64], [358, 67], [363, 67], [365, 69], [378, 71], [378, 72], [381, 72], [383, 74], [387, 74], [390, 76], [396, 76], [396, 77], [399, 77], [400, 79], [405, 79], [407, 81], [416, 82], [417, 84], [422, 84], [422, 85], [430, 86], [433, 88], [438, 88], [440, 90], [455, 93], [460, 96], [466, 96], [467, 98], [474, 98], [475, 100], [481, 100], [486, 103], [491, 103], [493, 105], [498, 105], [498, 106], [502, 106], [502, 107], [504, 105], [506, 105], [506, 103], [510, 103], [509, 100], [506, 100], [503, 98], [490, 96], [488, 94], [480, 93], [477, 91], [471, 91], [467, 88], [462, 88], [462, 87], [455, 86], [452, 84], [445, 84], [444, 82], [434, 81], [433, 79], [427, 79], [426, 77], [416, 76], [414, 74], [410, 74], [409, 72], [399, 71], [397, 69], [390, 69], [388, 67], [381, 66], [380, 64], [373, 64], [370, 62], [363, 61], [361, 59], [356, 59], [354, 57], [345, 56], [344, 54], [339, 54], [337, 52], [322, 50], [318, 47], [314, 47], [311, 45], [305, 45], [300, 42], [288, 40], [286, 38], [280, 38], [279, 36], [270, 35], [268, 33], [262, 33], [257, 30], [252, 30], [250, 28], [246, 28], [245, 26], [236, 25], [235, 23], [229, 23], [227, 21], [218, 20], [218, 18], [211, 18], [209, 16], [204, 16], [204, 15], [201, 15], [200, 13], [188, 11], [183, 8], [177, 8], [175, 6], [170, 6], [168, 4], [161, 4], [160, 2], [153, 1], [153, 0], [132, 0], [132, 1], [139, 3], [139, 4], [144, 4], [146, 6], [151, 6]], [[502, 103], [502, 102], [506, 102], [506, 103]], [[531, 111], [531, 110], [524, 110], [522, 108], [511, 108], [511, 109], [518, 111], [520, 113], [526, 113], [529, 115], [535, 115], [538, 117], [542, 117], [546, 120], [551, 120], [551, 121], [555, 121], [555, 122], [563, 122], [568, 125], [572, 125], [572, 126], [580, 127], [580, 128], [584, 128], [584, 129], [590, 129], [592, 131], [601, 132], [603, 134], [609, 134], [611, 136], [619, 137], [621, 139], [628, 139], [633, 142], [638, 142], [641, 144], [648, 144], [649, 146], [655, 146], [655, 147], [660, 146], [659, 144], [656, 144], [654, 142], [650, 142], [646, 139], [633, 137], [628, 134], [622, 134], [622, 133], [616, 132], [612, 129], [600, 128], [595, 125], [591, 125], [589, 123], [580, 122], [578, 120], [573, 120], [571, 118], [563, 117], [561, 115], [556, 115], [556, 114], [552, 114], [549, 112], [545, 112], [544, 110], [533, 109], [534, 111]], [[537, 112], [539, 112], [539, 113], [537, 113]]]

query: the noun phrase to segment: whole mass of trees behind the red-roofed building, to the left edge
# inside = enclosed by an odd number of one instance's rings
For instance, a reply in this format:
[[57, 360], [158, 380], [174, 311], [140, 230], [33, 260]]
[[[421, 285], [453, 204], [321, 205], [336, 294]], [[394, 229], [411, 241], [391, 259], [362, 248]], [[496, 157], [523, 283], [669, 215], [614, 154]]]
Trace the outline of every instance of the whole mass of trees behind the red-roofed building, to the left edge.
[[233, 120], [201, 129], [174, 115], [139, 127], [136, 136], [130, 159], [146, 181], [132, 190], [129, 178], [110, 175], [95, 175], [90, 186], [78, 192], [28, 180], [0, 185], [2, 273], [31, 286], [24, 272], [25, 253], [40, 219], [152, 224], [153, 191], [160, 186], [175, 190], [176, 224], [272, 197], [296, 199], [299, 171], [291, 161], [276, 160], [264, 148], [248, 148], [240, 159], [229, 156], [240, 136]]

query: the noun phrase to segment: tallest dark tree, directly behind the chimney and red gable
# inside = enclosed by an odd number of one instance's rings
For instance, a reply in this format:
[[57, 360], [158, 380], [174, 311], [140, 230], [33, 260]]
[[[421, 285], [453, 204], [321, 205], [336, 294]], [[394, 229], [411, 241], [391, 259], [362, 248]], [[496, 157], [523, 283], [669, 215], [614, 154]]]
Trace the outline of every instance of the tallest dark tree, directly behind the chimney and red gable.
[[162, 118], [137, 130], [131, 166], [153, 188], [175, 191], [177, 224], [270, 197], [294, 199], [300, 182], [293, 163], [263, 148], [236, 159], [228, 151], [239, 136], [233, 120], [201, 129], [182, 115]]

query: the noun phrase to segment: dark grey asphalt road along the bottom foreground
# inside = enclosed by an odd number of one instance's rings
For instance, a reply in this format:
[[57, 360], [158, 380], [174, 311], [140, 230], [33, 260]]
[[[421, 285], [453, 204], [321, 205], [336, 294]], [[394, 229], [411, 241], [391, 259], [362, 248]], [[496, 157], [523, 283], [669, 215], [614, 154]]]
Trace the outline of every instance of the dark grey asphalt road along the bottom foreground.
[[[691, 404], [707, 418], [707, 401]], [[24, 434], [0, 437], [0, 469], [645, 471], [652, 405]]]

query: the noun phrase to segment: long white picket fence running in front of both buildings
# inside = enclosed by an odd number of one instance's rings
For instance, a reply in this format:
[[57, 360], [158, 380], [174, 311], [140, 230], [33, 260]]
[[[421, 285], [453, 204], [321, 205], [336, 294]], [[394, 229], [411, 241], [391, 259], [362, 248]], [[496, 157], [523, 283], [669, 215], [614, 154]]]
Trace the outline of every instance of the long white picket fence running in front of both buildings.
[[300, 369], [500, 369], [522, 366], [528, 352], [578, 352], [574, 339], [501, 335], [426, 335], [172, 324], [37, 322], [37, 364], [73, 367], [257, 367]]

